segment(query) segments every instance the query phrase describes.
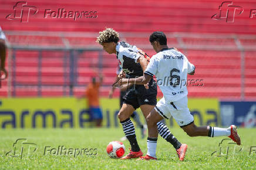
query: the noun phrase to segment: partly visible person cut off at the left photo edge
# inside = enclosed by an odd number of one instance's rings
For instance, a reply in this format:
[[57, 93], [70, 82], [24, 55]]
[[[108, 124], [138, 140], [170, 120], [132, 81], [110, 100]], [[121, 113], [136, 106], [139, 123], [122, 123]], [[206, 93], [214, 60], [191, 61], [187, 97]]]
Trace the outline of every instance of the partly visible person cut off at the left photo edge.
[[5, 77], [0, 77], [2, 78], [6, 78], [7, 76], [7, 71], [5, 70], [5, 56], [6, 56], [6, 46], [5, 46], [5, 35], [4, 32], [2, 31], [1, 27], [0, 27], [0, 59], [1, 59], [1, 72], [4, 72]]

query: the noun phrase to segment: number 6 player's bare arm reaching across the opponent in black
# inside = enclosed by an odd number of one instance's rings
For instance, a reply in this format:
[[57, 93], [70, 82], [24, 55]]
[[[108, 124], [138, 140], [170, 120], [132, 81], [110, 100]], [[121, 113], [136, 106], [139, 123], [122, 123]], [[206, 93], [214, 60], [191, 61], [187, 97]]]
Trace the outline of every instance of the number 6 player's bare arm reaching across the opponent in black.
[[121, 79], [119, 80], [119, 85], [127, 84], [129, 86], [130, 84], [147, 84], [152, 79], [153, 76], [150, 76], [149, 74], [144, 74], [144, 76], [140, 76], [133, 79]]

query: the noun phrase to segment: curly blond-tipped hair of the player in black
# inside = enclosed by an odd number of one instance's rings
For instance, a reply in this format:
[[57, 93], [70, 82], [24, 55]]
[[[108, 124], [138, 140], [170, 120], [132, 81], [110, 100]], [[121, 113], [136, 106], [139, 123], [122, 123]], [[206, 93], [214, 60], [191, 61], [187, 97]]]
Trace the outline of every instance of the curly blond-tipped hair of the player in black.
[[115, 42], [119, 41], [119, 33], [117, 33], [112, 28], [106, 28], [102, 32], [99, 32], [100, 35], [97, 37], [96, 42], [102, 45], [105, 42]]

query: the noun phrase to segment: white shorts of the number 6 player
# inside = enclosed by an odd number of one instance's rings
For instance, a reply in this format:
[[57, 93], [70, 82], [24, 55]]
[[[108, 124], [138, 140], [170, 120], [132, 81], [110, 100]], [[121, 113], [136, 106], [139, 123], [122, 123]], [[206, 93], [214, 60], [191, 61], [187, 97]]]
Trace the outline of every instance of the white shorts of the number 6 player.
[[187, 108], [187, 96], [171, 103], [166, 103], [166, 100], [161, 98], [154, 109], [164, 118], [169, 119], [173, 116], [180, 127], [194, 122], [194, 117]]

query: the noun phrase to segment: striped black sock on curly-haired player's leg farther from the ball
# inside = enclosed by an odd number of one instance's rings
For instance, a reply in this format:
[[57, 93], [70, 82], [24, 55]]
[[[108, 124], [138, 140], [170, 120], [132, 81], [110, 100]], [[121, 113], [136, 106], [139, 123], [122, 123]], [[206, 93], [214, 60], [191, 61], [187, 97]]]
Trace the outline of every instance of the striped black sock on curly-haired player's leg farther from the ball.
[[170, 142], [176, 150], [181, 147], [181, 143], [176, 139], [176, 137], [174, 137], [173, 134], [171, 134], [165, 124], [161, 122], [157, 123], [157, 130], [160, 136], [163, 137], [167, 142]]

